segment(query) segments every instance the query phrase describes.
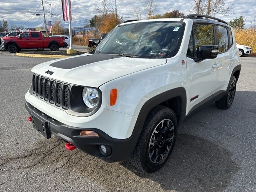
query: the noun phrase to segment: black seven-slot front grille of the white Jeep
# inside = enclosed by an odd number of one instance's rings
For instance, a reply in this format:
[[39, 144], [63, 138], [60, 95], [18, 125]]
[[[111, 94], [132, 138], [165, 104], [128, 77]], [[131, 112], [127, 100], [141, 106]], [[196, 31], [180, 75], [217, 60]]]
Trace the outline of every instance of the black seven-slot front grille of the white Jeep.
[[33, 74], [32, 94], [50, 104], [68, 109], [70, 106], [70, 85], [44, 76]]

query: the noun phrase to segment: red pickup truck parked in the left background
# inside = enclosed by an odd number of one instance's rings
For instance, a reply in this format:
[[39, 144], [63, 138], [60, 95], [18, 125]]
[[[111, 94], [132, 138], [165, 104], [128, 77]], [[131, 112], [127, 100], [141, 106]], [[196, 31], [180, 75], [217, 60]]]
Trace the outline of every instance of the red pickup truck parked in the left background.
[[1, 38], [1, 49], [8, 49], [10, 53], [30, 48], [50, 48], [51, 51], [58, 51], [64, 44], [64, 37], [44, 37], [40, 31], [23, 32], [16, 37]]

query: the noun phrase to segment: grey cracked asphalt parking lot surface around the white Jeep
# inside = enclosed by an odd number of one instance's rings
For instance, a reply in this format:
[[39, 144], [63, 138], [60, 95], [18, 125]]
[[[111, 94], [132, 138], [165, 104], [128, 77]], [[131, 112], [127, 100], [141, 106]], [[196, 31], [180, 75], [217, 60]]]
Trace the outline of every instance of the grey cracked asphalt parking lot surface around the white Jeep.
[[0, 191], [256, 191], [256, 58], [242, 58], [232, 107], [214, 104], [180, 126], [165, 166], [142, 173], [46, 140], [26, 118], [31, 68], [52, 60], [0, 52]]

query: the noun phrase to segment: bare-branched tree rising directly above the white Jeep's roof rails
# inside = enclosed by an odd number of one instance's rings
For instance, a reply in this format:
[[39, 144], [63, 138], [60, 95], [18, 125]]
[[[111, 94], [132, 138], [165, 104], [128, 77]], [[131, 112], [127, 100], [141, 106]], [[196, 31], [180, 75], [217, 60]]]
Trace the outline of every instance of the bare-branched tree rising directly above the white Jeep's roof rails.
[[194, 0], [193, 10], [196, 14], [215, 16], [216, 14], [228, 15], [232, 5], [226, 5], [224, 0]]

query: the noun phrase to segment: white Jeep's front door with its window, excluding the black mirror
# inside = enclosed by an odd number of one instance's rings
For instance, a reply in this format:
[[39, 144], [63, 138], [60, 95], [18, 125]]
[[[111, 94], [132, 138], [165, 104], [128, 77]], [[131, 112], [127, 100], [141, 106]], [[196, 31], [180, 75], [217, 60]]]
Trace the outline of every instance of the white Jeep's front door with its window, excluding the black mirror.
[[222, 67], [218, 59], [205, 59], [195, 62], [197, 48], [200, 45], [214, 45], [214, 26], [201, 24], [193, 26], [187, 53], [188, 70], [188, 110], [220, 89], [218, 82], [219, 69]]

